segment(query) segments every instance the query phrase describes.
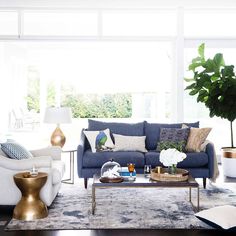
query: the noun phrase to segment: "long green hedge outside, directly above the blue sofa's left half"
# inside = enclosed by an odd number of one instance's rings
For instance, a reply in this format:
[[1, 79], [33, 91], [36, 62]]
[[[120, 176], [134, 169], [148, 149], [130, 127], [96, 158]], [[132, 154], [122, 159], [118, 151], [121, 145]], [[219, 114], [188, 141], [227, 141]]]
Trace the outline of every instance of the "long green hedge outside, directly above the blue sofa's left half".
[[66, 93], [62, 106], [71, 107], [74, 118], [129, 118], [132, 115], [131, 94]]

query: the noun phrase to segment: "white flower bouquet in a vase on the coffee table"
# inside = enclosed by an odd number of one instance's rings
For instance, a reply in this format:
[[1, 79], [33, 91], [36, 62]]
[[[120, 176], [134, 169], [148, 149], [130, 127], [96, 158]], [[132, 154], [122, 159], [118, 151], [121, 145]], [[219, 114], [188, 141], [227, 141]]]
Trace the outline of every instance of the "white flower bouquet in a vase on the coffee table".
[[186, 158], [186, 154], [179, 152], [175, 148], [169, 148], [167, 150], [162, 150], [160, 153], [160, 162], [169, 167], [170, 173], [176, 173], [176, 166], [179, 162], [183, 161]]

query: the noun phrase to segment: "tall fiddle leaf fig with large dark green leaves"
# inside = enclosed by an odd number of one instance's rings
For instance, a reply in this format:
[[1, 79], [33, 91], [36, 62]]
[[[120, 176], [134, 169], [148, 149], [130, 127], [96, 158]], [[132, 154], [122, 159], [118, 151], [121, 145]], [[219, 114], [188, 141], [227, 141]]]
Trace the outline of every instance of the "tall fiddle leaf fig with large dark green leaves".
[[205, 58], [205, 44], [198, 48], [198, 56], [192, 59], [188, 69], [191, 78], [185, 90], [197, 96], [209, 109], [210, 117], [217, 116], [230, 121], [231, 147], [233, 143], [233, 121], [236, 118], [236, 76], [233, 65], [225, 65], [223, 55], [217, 53], [213, 58]]

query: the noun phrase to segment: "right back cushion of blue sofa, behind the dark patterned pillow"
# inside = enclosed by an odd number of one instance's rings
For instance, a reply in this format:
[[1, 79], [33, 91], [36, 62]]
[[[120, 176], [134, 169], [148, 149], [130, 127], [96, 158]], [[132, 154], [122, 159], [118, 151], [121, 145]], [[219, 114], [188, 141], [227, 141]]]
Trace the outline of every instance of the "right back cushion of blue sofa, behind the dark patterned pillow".
[[[157, 143], [160, 141], [160, 129], [161, 128], [182, 128], [183, 123], [176, 124], [160, 124], [160, 123], [148, 123], [144, 122], [144, 135], [146, 136], [146, 148], [147, 150], [156, 150]], [[195, 123], [184, 123], [189, 127], [199, 127], [199, 121]]]

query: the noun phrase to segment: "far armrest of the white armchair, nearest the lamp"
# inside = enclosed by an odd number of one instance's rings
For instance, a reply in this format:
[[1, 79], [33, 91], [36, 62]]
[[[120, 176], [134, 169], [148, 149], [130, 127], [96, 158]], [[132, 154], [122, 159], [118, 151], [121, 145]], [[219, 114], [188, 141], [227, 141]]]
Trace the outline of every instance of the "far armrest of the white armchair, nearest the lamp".
[[34, 157], [50, 156], [53, 160], [61, 160], [61, 147], [49, 146], [37, 150], [30, 151]]

